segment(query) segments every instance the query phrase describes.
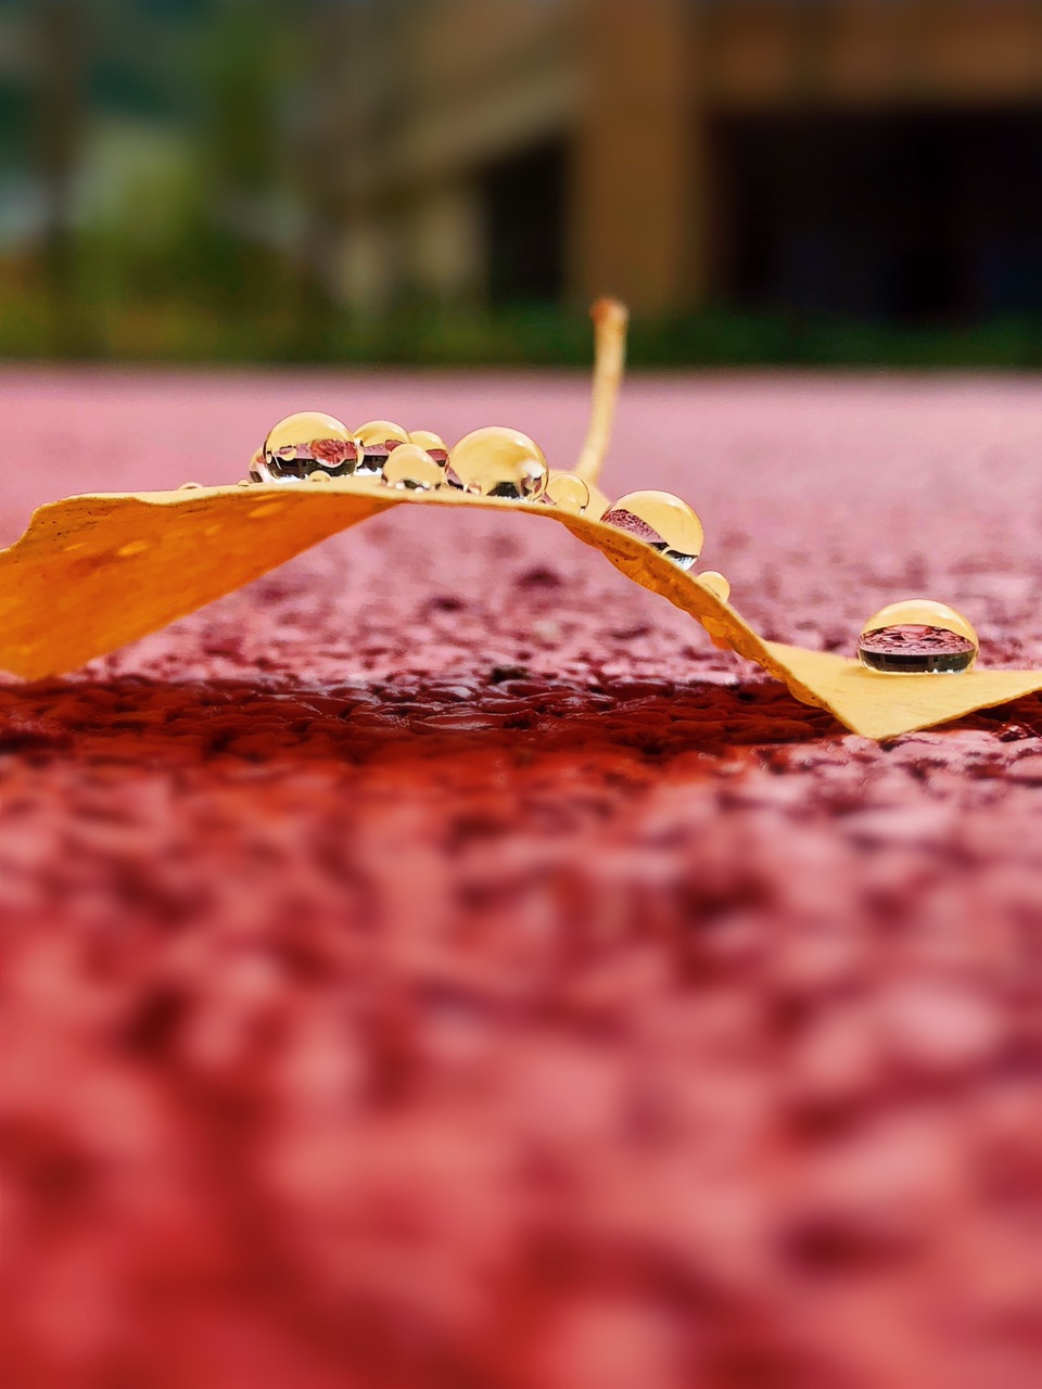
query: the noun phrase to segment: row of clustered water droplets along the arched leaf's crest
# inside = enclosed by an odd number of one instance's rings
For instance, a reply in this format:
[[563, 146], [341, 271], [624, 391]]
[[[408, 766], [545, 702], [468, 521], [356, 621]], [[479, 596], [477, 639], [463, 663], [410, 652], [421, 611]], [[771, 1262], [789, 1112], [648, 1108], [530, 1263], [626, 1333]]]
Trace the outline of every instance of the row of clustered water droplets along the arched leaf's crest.
[[[490, 425], [464, 435], [450, 450], [428, 429], [411, 433], [390, 419], [371, 419], [349, 429], [333, 415], [300, 411], [268, 432], [250, 464], [250, 482], [328, 482], [368, 478], [396, 490], [450, 488], [479, 497], [540, 503], [571, 515], [590, 514], [657, 550], [681, 569], [696, 563], [704, 539], [692, 507], [670, 492], [629, 492], [600, 511], [575, 472], [552, 471], [528, 435]], [[596, 514], [600, 513], [600, 514]], [[727, 600], [721, 574], [700, 575]]]

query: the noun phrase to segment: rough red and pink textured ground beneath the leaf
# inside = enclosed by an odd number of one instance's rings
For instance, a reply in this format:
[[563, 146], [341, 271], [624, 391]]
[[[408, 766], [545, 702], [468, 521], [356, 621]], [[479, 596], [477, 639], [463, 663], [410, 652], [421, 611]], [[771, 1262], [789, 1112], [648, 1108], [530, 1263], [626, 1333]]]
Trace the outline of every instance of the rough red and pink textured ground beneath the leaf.
[[[8, 371], [3, 539], [296, 408], [564, 461], [585, 392]], [[606, 485], [768, 636], [925, 593], [1039, 664], [1039, 457], [1031, 383], [675, 378]], [[545, 525], [0, 686], [0, 1381], [1038, 1385], [1041, 865], [1038, 699], [877, 747]]]

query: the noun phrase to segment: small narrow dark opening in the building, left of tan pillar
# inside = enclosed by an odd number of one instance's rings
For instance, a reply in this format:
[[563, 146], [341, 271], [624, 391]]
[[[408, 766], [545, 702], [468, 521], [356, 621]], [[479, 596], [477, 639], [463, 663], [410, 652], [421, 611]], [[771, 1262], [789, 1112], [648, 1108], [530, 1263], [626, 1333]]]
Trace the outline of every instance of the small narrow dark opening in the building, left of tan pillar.
[[483, 175], [493, 304], [552, 303], [564, 293], [565, 147], [542, 144]]

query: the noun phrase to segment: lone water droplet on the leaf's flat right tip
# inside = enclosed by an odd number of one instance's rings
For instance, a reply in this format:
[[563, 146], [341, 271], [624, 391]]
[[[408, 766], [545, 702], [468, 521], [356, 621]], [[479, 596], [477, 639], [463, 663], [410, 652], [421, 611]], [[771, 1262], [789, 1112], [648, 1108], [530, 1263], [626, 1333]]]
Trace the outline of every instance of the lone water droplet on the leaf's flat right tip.
[[866, 622], [857, 658], [891, 675], [957, 675], [970, 669], [978, 647], [961, 613], [932, 599], [906, 599]]

